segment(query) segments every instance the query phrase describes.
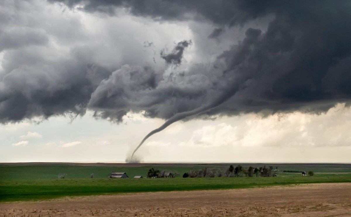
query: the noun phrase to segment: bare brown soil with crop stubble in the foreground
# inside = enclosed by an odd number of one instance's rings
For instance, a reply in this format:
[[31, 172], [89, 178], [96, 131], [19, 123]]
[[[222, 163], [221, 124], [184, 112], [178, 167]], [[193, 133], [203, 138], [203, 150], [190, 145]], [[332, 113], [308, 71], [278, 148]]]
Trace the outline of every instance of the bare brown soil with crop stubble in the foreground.
[[2, 203], [0, 216], [351, 216], [351, 183]]

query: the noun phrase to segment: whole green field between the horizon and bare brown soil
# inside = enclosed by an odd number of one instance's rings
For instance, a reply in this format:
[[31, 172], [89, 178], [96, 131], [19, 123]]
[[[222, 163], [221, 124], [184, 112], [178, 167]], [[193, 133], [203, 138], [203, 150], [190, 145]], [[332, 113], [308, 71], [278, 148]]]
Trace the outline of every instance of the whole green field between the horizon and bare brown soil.
[[[234, 164], [235, 165], [235, 164]], [[241, 164], [246, 167], [246, 164]], [[258, 164], [250, 164], [256, 166]], [[283, 170], [313, 170], [314, 172], [351, 172], [349, 164], [311, 165], [286, 164], [278, 166]], [[276, 185], [303, 183], [338, 183], [351, 182], [351, 174], [316, 174], [302, 177], [299, 173], [282, 173], [279, 177], [219, 177], [219, 178], [164, 178], [164, 179], [109, 179], [111, 171], [126, 172], [128, 176], [145, 176], [150, 167], [159, 170], [174, 171], [180, 174], [191, 169], [227, 167], [222, 164], [187, 165], [187, 166], [79, 166], [79, 165], [1, 165], [0, 166], [0, 201], [40, 200], [65, 196], [99, 195], [108, 193], [208, 190], [253, 188]], [[58, 173], [67, 173], [67, 178], [57, 179]], [[88, 178], [94, 173], [94, 178]]]

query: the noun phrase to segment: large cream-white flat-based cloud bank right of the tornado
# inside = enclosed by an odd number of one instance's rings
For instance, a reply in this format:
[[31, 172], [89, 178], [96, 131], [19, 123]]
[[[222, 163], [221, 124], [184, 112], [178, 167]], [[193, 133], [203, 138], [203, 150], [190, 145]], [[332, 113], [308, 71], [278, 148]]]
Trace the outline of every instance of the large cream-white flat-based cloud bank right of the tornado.
[[[338, 104], [323, 114], [294, 112], [262, 118], [232, 117], [234, 123], [209, 124], [193, 131], [183, 146], [316, 147], [350, 146], [351, 109]], [[327, 124], [326, 124], [327, 123]]]

